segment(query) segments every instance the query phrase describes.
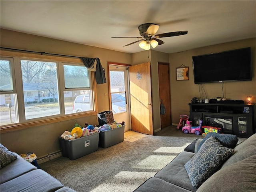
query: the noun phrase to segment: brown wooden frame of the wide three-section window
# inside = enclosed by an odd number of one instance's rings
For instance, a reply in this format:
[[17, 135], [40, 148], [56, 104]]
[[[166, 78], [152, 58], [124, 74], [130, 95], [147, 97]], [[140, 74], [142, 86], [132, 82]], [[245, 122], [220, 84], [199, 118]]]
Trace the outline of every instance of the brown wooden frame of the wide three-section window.
[[[21, 53], [21, 52], [12, 52], [12, 51], [2, 51], [1, 50], [1, 60], [10, 60], [12, 66], [12, 79], [13, 79], [13, 91], [2, 91], [0, 94], [17, 94], [17, 102], [19, 108], [19, 123], [16, 124], [8, 124], [5, 126], [1, 126], [0, 130], [1, 133], [3, 132], [12, 132], [14, 130], [20, 130], [27, 127], [50, 124], [53, 122], [59, 122], [64, 120], [70, 120], [72, 118], [80, 118], [84, 116], [92, 116], [98, 114], [98, 106], [96, 102], [96, 79], [94, 76], [94, 72], [88, 71], [90, 76], [90, 90], [93, 95], [93, 110], [89, 112], [80, 112], [80, 113], [73, 113], [65, 115], [64, 109], [64, 91], [69, 91], [70, 89], [64, 88], [64, 71], [63, 65], [72, 63], [77, 65], [82, 65], [80, 58], [67, 58], [67, 57], [60, 57], [60, 56], [46, 56], [46, 55], [38, 55], [38, 54], [31, 54], [31, 53]], [[45, 62], [56, 62], [57, 65], [57, 78], [58, 78], [58, 94], [60, 99], [60, 115], [54, 116], [46, 116], [42, 118], [36, 119], [29, 119], [25, 120], [25, 112], [24, 112], [24, 95], [23, 95], [23, 86], [22, 86], [22, 74], [21, 74], [21, 65], [20, 60], [42, 60]], [[74, 89], [72, 89], [74, 90]], [[78, 90], [80, 90], [78, 88]]]

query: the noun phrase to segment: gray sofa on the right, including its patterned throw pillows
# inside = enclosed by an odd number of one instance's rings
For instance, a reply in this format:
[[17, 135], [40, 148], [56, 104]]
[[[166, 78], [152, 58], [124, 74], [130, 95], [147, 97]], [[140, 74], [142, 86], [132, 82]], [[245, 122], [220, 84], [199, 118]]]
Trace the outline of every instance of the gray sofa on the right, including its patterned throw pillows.
[[194, 153], [181, 152], [134, 192], [255, 192], [256, 134], [240, 144], [233, 140], [234, 149], [226, 147], [224, 134], [218, 134], [224, 140], [208, 134], [196, 141]]

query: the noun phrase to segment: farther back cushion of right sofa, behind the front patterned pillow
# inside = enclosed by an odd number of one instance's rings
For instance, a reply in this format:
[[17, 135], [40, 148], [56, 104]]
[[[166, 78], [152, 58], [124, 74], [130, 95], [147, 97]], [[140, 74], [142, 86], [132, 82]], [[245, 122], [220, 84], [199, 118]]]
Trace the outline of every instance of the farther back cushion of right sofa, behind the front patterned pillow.
[[230, 164], [236, 163], [238, 161], [241, 161], [255, 154], [256, 154], [256, 134], [253, 134], [244, 142], [238, 144], [234, 148], [234, 152], [232, 156], [230, 156], [230, 158], [228, 158], [228, 160], [224, 162], [224, 164], [222, 165], [222, 168]]

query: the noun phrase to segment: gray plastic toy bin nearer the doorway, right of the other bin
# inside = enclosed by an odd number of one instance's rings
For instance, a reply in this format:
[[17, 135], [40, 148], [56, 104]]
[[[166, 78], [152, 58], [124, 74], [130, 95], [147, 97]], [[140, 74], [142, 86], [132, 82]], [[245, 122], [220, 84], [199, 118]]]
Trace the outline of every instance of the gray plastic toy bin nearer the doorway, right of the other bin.
[[124, 141], [124, 126], [100, 131], [99, 145], [103, 148], [107, 148]]

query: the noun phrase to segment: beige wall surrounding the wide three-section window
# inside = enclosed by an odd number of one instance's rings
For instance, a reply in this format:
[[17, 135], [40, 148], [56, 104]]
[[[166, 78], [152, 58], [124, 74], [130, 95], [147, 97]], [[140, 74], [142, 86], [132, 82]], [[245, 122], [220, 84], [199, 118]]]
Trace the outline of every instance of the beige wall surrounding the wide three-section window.
[[[98, 57], [102, 67], [107, 69], [107, 62], [131, 64], [131, 54], [117, 52], [72, 42], [34, 36], [1, 29], [1, 47], [48, 52], [71, 56]], [[109, 110], [109, 100], [104, 97], [108, 93], [107, 83], [97, 85], [98, 112]], [[58, 137], [74, 124], [98, 124], [97, 116], [70, 119], [45, 126], [30, 127], [23, 130], [0, 134], [1, 143], [18, 154], [33, 151], [38, 157], [60, 150]]]

